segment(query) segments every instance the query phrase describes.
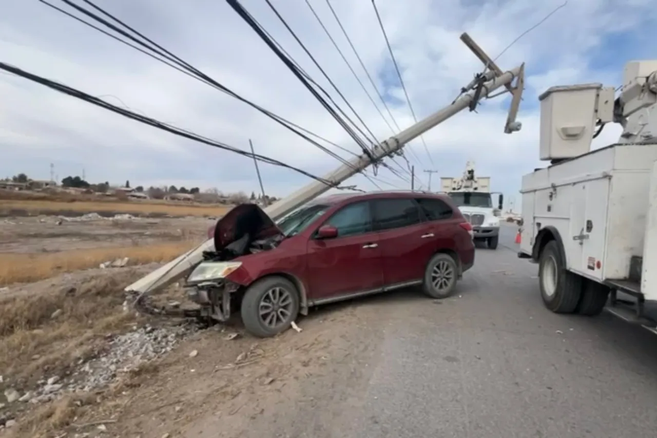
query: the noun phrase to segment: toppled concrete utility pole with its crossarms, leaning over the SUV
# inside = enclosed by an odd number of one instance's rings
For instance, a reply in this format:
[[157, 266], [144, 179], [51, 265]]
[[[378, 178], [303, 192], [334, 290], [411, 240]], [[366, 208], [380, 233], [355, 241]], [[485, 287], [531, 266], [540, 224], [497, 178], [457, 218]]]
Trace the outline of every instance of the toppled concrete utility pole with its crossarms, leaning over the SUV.
[[[390, 137], [379, 145], [376, 145], [371, 153], [363, 154], [351, 158], [346, 164], [339, 166], [323, 178], [324, 182], [315, 181], [308, 183], [301, 187], [291, 195], [273, 203], [264, 208], [264, 212], [274, 222], [281, 221], [286, 215], [294, 210], [302, 207], [315, 197], [327, 192], [334, 185], [344, 182], [351, 176], [362, 172], [368, 166], [377, 164], [380, 160], [386, 157], [393, 157], [399, 154], [401, 149], [413, 139], [424, 134], [428, 130], [438, 126], [451, 116], [457, 114], [461, 110], [469, 109], [474, 111], [480, 99], [491, 96], [491, 93], [499, 87], [506, 87], [512, 94], [512, 99], [509, 107], [509, 115], [505, 124], [505, 133], [510, 134], [522, 128], [522, 124], [516, 121], [516, 114], [520, 105], [522, 91], [524, 89], [524, 63], [507, 72], [503, 72], [495, 62], [484, 51], [472, 41], [467, 34], [461, 35], [461, 40], [465, 45], [486, 65], [484, 72], [475, 75], [474, 79], [463, 89], [461, 89], [461, 96], [455, 101], [438, 110], [434, 114], [420, 120], [413, 126], [399, 132], [399, 134]], [[512, 85], [515, 80], [515, 85]], [[328, 185], [325, 182], [331, 182]], [[195, 249], [175, 258], [171, 262], [161, 266], [154, 272], [147, 276], [135, 281], [135, 283], [125, 287], [127, 293], [137, 295], [135, 299], [135, 307], [138, 310], [150, 314], [171, 314], [172, 316], [192, 316], [192, 310], [177, 310], [168, 308], [156, 308], [154, 304], [148, 300], [148, 295], [154, 291], [162, 289], [170, 285], [174, 281], [189, 275], [194, 268], [202, 264], [204, 260], [204, 253], [214, 251], [214, 239], [208, 239], [205, 243]], [[300, 291], [302, 295], [305, 294], [303, 288]], [[226, 293], [229, 293], [226, 292]], [[224, 299], [229, 300], [224, 296]], [[300, 313], [307, 314], [307, 300], [306, 297], [301, 297]]]

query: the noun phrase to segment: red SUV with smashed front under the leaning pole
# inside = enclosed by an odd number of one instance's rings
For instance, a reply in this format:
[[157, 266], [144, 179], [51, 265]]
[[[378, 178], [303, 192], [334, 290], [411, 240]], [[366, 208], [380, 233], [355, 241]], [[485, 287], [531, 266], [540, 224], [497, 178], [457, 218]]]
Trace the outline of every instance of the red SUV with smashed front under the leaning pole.
[[412, 285], [448, 297], [474, 264], [472, 226], [449, 197], [431, 193], [332, 195], [277, 224], [243, 204], [211, 231], [215, 251], [187, 278], [189, 295], [219, 321], [240, 307], [258, 337], [319, 304]]

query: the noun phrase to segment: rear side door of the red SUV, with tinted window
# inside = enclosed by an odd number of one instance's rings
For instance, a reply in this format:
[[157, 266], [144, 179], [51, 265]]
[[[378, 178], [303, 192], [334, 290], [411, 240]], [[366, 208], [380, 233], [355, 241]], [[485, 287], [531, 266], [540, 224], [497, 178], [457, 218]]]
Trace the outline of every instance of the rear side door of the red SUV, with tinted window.
[[430, 226], [422, 222], [419, 205], [411, 198], [375, 199], [372, 203], [384, 284], [390, 287], [421, 281], [436, 243]]

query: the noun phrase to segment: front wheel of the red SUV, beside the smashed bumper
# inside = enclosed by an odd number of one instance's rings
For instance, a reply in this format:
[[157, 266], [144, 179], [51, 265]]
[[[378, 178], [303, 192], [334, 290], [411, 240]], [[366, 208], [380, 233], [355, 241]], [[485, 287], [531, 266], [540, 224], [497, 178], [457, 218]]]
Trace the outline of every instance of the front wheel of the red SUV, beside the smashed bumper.
[[[246, 330], [256, 337], [283, 333], [299, 314], [299, 292], [291, 281], [266, 277], [246, 289], [240, 312]], [[261, 310], [271, 309], [261, 313]]]

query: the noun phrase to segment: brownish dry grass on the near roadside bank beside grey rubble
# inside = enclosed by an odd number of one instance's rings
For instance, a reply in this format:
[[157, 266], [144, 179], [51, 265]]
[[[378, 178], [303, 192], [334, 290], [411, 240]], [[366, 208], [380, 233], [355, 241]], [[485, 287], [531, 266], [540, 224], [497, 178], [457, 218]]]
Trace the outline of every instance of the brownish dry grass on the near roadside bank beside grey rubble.
[[[0, 370], [22, 389], [43, 376], [66, 376], [73, 364], [91, 358], [106, 334], [137, 322], [124, 312], [123, 288], [139, 278], [132, 268], [39, 295], [14, 297], [0, 305]], [[57, 317], [53, 313], [58, 311]], [[45, 437], [70, 426], [97, 395], [71, 394], [21, 416], [13, 436]], [[52, 436], [52, 435], [51, 435]]]

